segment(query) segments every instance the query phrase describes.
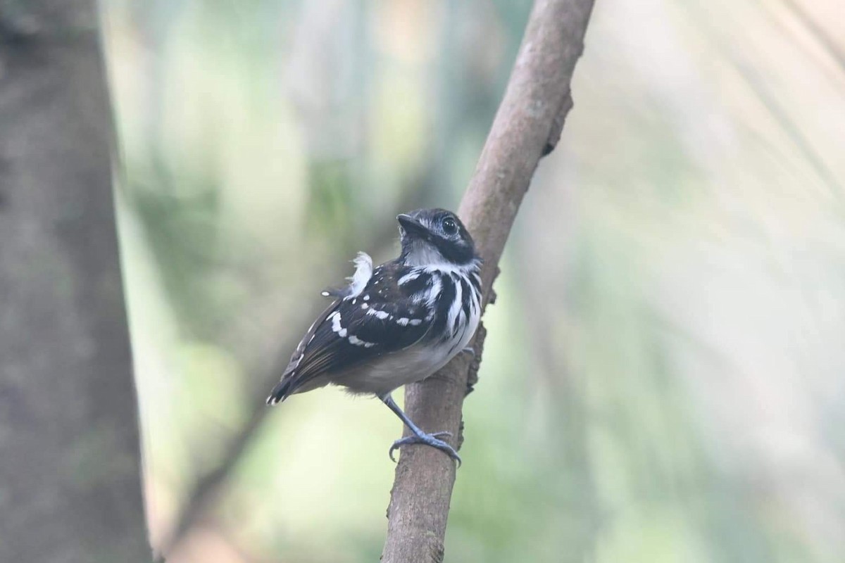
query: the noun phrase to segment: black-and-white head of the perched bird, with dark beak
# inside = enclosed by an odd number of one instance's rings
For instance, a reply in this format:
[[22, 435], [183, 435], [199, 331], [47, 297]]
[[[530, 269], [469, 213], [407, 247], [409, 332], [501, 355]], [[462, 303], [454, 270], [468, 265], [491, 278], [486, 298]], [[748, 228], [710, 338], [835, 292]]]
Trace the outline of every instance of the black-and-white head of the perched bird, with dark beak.
[[472, 236], [458, 216], [445, 209], [417, 209], [396, 217], [408, 266], [448, 264], [471, 266], [478, 262]]

